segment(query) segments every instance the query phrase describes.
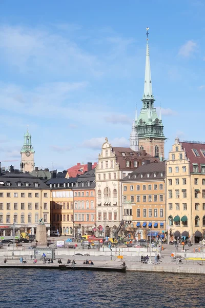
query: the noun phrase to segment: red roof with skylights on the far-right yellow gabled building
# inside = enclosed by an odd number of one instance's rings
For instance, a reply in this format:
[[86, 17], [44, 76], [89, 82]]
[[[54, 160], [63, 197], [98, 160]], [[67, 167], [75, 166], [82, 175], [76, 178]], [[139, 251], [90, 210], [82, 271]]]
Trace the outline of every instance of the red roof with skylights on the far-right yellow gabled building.
[[[201, 172], [200, 164], [205, 164], [205, 143], [181, 142], [181, 144], [190, 160], [190, 172], [193, 172], [193, 164], [197, 164], [198, 170]], [[198, 157], [194, 154], [194, 149], [198, 152]], [[202, 150], [204, 150], [204, 155]]]

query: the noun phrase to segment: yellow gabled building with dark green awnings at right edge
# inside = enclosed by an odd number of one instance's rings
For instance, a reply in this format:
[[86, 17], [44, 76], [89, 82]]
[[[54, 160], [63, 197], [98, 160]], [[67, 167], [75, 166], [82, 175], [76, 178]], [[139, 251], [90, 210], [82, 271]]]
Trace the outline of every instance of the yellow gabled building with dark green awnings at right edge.
[[205, 144], [176, 138], [166, 170], [169, 237], [198, 243], [205, 230]]

